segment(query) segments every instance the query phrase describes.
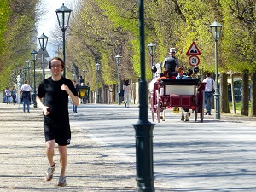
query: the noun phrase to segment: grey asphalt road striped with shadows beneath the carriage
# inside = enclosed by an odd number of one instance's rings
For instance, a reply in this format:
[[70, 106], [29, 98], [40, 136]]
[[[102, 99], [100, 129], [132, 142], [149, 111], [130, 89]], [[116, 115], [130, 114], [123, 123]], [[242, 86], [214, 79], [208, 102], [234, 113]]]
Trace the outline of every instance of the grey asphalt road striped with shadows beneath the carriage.
[[[221, 115], [204, 122], [180, 120], [166, 111], [166, 121], [154, 126], [154, 177], [173, 191], [256, 191], [255, 119]], [[151, 113], [148, 113], [151, 118]], [[73, 123], [96, 143], [135, 167], [135, 130], [138, 107], [80, 105]], [[151, 119], [150, 119], [151, 121]]]

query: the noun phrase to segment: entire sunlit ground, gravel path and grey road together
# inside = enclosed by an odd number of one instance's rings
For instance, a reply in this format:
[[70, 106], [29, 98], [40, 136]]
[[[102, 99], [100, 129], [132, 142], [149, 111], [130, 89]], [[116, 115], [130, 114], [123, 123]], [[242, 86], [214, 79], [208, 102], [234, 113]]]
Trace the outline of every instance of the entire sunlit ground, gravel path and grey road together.
[[[60, 174], [57, 150], [55, 177], [50, 182], [44, 181], [47, 160], [41, 111], [32, 108], [31, 113], [22, 113], [16, 105], [0, 104], [0, 191], [135, 191], [135, 139], [131, 124], [137, 122], [138, 108], [131, 106], [120, 114], [116, 106], [109, 105], [102, 109], [104, 111], [98, 108], [98, 112], [88, 113], [95, 108], [96, 105], [81, 105], [79, 115], [71, 115], [72, 144], [68, 147], [67, 187], [60, 189], [55, 187]], [[108, 117], [104, 121], [100, 120], [102, 113]], [[122, 122], [119, 115], [122, 115]], [[155, 125], [156, 191], [256, 191], [255, 179], [252, 179], [256, 177], [253, 160], [255, 136], [252, 136], [255, 118], [225, 114], [217, 124], [212, 119], [213, 115], [206, 117], [206, 124], [193, 121], [187, 124], [169, 118]], [[232, 126], [246, 125], [248, 121], [250, 126], [241, 136], [241, 127], [234, 133], [229, 121], [234, 122]], [[173, 123], [180, 127], [171, 130]], [[201, 125], [205, 127], [199, 128]], [[211, 126], [216, 126], [216, 129]], [[242, 137], [247, 137], [247, 140]], [[230, 145], [237, 151], [232, 153]], [[234, 178], [239, 186], [230, 183]]]

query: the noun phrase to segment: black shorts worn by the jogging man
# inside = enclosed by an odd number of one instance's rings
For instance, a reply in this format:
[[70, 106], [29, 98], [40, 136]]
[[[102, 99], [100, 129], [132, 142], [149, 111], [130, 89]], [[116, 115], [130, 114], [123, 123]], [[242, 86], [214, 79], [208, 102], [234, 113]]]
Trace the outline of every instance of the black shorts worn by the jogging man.
[[45, 142], [55, 140], [58, 145], [69, 145], [71, 139], [69, 120], [62, 119], [56, 122], [49, 118], [44, 118], [44, 137]]

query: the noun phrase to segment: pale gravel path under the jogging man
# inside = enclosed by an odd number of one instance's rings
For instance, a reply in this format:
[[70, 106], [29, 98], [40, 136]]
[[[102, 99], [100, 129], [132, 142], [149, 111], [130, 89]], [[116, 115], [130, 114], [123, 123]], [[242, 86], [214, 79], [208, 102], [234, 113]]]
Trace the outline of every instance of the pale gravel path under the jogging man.
[[[55, 177], [44, 181], [43, 118], [39, 109], [22, 113], [17, 106], [0, 104], [0, 191], [60, 191], [58, 152]], [[67, 187], [61, 191], [134, 191], [135, 170], [129, 164], [113, 164], [111, 154], [72, 124], [68, 147]]]

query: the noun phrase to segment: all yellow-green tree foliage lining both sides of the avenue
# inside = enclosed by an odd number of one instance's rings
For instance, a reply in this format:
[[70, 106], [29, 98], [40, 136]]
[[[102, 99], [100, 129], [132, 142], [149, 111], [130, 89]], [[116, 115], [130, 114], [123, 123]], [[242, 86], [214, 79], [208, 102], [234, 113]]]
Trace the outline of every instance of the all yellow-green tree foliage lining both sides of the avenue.
[[[0, 85], [9, 84], [36, 47], [38, 0], [0, 0]], [[223, 25], [218, 40], [221, 72], [255, 71], [255, 0], [144, 0], [145, 41], [157, 45], [154, 62], [161, 62], [171, 47], [184, 67], [193, 41], [201, 50], [200, 68], [214, 71], [214, 40], [209, 26]], [[120, 78], [137, 81], [140, 45], [137, 0], [80, 0], [74, 5], [67, 29], [67, 74], [83, 74], [96, 89], [96, 63], [101, 64], [101, 84], [117, 84], [115, 55], [121, 55]], [[60, 35], [55, 43], [61, 45]], [[145, 46], [147, 48], [147, 46]], [[57, 49], [57, 48], [56, 48]], [[146, 78], [151, 79], [151, 57], [146, 51]], [[18, 72], [17, 72], [18, 73]]]

